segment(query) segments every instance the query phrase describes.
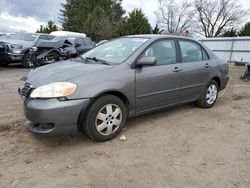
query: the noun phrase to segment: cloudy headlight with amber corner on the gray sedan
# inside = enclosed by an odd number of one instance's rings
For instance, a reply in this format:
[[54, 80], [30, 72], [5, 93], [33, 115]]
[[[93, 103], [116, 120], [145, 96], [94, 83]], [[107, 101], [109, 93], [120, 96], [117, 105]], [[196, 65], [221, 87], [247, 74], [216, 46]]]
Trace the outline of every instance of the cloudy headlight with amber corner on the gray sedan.
[[66, 97], [75, 92], [77, 85], [71, 82], [53, 82], [36, 88], [31, 98], [57, 98]]

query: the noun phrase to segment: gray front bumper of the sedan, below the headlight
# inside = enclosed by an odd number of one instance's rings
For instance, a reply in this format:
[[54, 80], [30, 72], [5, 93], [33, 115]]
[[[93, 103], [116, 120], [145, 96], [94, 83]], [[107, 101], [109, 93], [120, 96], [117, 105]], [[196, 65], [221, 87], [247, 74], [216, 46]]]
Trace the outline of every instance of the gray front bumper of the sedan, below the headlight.
[[90, 99], [59, 101], [58, 99], [24, 100], [26, 128], [37, 134], [64, 135], [78, 131], [78, 118]]

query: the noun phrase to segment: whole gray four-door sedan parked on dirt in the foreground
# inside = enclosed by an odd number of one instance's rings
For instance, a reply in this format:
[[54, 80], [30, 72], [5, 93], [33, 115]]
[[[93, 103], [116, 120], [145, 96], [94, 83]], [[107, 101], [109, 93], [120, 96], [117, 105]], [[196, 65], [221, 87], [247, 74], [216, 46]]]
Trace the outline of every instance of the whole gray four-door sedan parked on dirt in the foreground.
[[190, 38], [135, 35], [32, 70], [19, 93], [31, 132], [82, 131], [107, 141], [134, 116], [191, 102], [212, 107], [228, 83], [228, 69]]

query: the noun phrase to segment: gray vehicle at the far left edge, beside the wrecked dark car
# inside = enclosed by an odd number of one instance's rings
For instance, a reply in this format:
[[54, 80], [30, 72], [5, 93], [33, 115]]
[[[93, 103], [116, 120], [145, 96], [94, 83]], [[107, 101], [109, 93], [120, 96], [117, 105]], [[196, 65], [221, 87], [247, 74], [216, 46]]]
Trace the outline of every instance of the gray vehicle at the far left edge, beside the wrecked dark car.
[[39, 39], [51, 40], [54, 36], [38, 33], [17, 33], [0, 36], [0, 64], [21, 62], [23, 67], [29, 65], [29, 50]]

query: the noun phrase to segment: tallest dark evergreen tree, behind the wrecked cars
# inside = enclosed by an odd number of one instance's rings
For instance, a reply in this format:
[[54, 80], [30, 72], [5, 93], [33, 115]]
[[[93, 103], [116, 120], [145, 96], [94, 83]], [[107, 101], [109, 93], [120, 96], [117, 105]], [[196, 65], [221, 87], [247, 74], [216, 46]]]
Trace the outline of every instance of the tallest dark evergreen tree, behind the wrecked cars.
[[98, 9], [105, 12], [112, 27], [115, 27], [125, 13], [121, 4], [122, 0], [66, 0], [66, 3], [62, 4], [59, 19], [63, 30], [85, 33], [88, 31], [86, 24], [89, 24], [86, 20], [96, 14], [93, 11], [99, 7]]

